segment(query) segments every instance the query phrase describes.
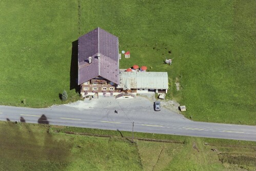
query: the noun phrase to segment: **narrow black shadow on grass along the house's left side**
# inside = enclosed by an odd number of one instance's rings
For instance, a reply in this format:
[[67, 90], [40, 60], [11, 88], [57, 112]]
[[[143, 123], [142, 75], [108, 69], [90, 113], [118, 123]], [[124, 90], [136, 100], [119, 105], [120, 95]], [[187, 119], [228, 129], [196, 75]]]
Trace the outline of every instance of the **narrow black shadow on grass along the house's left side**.
[[77, 85], [78, 78], [78, 40], [72, 42], [72, 54], [70, 62], [70, 87], [69, 89], [75, 89], [75, 92], [80, 91], [80, 86]]

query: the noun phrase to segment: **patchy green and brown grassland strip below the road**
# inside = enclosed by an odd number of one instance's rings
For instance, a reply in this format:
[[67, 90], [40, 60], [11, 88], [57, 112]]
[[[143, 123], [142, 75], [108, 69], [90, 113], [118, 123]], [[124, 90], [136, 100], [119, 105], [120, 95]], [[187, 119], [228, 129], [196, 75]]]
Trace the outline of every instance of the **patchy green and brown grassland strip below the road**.
[[256, 169], [255, 142], [121, 133], [1, 121], [0, 170]]

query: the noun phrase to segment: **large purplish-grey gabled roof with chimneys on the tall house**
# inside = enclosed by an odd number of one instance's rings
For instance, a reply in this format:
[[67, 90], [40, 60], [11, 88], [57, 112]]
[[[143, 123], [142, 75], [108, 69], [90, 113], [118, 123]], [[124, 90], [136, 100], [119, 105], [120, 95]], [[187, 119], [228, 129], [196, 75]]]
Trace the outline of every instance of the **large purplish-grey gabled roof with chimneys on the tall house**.
[[[78, 85], [97, 76], [119, 84], [118, 37], [101, 28], [78, 38]], [[97, 58], [100, 54], [100, 59]], [[89, 64], [89, 57], [91, 63]]]

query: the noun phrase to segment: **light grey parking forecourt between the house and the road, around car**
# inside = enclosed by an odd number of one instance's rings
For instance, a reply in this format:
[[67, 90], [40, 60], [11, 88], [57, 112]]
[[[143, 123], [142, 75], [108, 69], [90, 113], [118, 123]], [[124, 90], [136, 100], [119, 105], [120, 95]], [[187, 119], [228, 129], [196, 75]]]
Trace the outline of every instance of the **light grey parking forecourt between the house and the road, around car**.
[[[120, 113], [126, 113], [130, 115], [162, 115], [162, 116], [172, 116], [173, 118], [186, 119], [182, 114], [179, 114], [178, 103], [173, 101], [161, 101], [161, 111], [154, 111], [154, 93], [137, 95], [134, 99], [115, 99], [113, 96], [104, 97], [99, 96], [99, 99], [85, 99], [84, 101], [77, 101], [74, 103], [67, 104], [65, 106], [76, 108], [77, 110], [98, 110], [101, 112], [109, 112], [114, 110]], [[158, 99], [157, 99], [158, 100]], [[105, 110], [106, 109], [106, 110]], [[93, 112], [92, 111], [92, 112]], [[104, 113], [103, 113], [104, 114]]]

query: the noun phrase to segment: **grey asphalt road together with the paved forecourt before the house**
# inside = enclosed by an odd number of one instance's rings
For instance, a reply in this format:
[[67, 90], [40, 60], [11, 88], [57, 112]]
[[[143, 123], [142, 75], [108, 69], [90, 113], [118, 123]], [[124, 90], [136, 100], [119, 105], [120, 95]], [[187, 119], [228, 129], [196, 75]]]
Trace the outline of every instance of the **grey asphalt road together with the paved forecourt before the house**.
[[143, 97], [102, 97], [41, 109], [0, 106], [0, 120], [121, 131], [131, 131], [134, 121], [135, 132], [256, 141], [255, 126], [191, 121], [165, 108], [155, 112]]

